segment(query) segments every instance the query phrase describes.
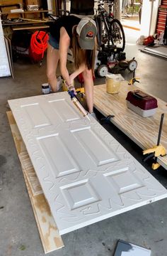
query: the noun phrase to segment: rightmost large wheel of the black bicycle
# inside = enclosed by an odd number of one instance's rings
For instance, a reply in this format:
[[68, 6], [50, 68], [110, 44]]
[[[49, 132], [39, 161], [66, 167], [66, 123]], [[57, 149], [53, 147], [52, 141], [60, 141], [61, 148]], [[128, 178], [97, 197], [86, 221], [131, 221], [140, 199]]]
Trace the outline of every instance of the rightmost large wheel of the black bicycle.
[[120, 48], [120, 51], [123, 51], [125, 49], [125, 33], [122, 24], [117, 18], [110, 22], [110, 34], [114, 45]]

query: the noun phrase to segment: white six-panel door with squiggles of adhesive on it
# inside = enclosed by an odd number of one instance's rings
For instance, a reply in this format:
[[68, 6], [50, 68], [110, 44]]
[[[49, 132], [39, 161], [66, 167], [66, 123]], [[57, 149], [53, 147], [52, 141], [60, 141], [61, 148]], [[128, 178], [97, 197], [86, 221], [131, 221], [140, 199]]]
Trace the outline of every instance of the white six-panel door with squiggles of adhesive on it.
[[8, 101], [59, 233], [167, 197], [156, 179], [67, 92]]

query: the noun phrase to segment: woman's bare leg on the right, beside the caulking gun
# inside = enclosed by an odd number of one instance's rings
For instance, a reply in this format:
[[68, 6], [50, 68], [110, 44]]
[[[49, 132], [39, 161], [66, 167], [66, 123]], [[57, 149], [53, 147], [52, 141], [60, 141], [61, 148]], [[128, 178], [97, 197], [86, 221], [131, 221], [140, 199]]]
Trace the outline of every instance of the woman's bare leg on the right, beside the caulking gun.
[[85, 87], [85, 94], [86, 94], [86, 102], [88, 105], [88, 112], [93, 112], [93, 74], [92, 70], [84, 70], [82, 73], [84, 78], [84, 87]]

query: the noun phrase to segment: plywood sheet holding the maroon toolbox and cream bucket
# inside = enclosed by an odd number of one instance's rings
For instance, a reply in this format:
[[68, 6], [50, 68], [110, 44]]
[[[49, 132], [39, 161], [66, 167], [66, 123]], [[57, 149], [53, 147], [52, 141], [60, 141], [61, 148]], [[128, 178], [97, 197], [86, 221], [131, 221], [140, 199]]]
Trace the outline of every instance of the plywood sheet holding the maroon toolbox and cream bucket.
[[[105, 117], [114, 114], [115, 117], [110, 119], [110, 122], [115, 124], [116, 127], [142, 149], [149, 149], [156, 145], [161, 114], [165, 113], [160, 144], [162, 144], [167, 151], [167, 104], [156, 97], [159, 106], [156, 110], [156, 114], [154, 114], [153, 117], [140, 117], [139, 114], [127, 108], [126, 102], [127, 92], [137, 89], [139, 89], [139, 87], [127, 85], [127, 81], [124, 81], [121, 84], [120, 92], [111, 95], [106, 92], [105, 84], [97, 85], [94, 87], [94, 107]], [[167, 156], [159, 156], [158, 162], [167, 169]]]

